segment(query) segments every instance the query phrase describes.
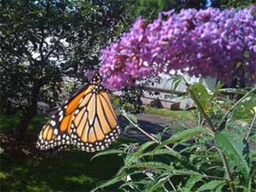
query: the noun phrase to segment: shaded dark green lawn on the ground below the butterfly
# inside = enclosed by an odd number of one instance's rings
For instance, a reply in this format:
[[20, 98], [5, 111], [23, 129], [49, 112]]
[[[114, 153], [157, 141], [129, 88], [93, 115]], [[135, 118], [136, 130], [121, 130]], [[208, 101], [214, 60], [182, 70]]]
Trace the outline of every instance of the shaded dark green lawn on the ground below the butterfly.
[[[3, 133], [18, 126], [19, 115], [0, 115], [0, 121]], [[29, 126], [30, 133], [38, 133], [46, 121], [45, 116], [35, 117]], [[127, 142], [131, 141], [120, 138], [111, 149]], [[36, 156], [1, 151], [0, 191], [90, 191], [100, 182], [114, 177], [123, 163], [117, 155], [90, 161], [95, 153], [75, 149], [57, 155], [37, 151]]]

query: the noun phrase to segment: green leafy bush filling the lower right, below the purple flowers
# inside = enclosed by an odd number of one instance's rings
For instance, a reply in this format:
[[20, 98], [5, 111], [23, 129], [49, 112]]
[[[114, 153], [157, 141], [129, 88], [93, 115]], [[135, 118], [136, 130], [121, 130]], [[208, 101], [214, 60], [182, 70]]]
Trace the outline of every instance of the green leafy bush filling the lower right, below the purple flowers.
[[[256, 191], [255, 149], [249, 145], [256, 135], [256, 86], [237, 102], [217, 97], [225, 89], [187, 86], [201, 117], [197, 127], [163, 141], [145, 133], [152, 141], [98, 153], [121, 155], [124, 165], [94, 191], [109, 185], [123, 191]], [[142, 129], [133, 115], [123, 115]]]

